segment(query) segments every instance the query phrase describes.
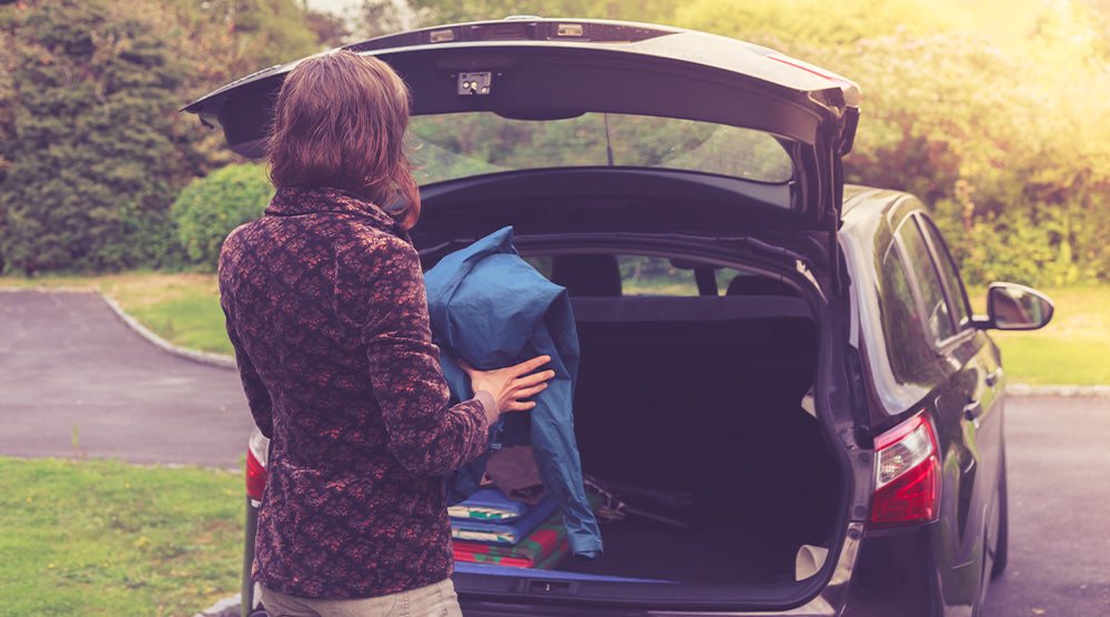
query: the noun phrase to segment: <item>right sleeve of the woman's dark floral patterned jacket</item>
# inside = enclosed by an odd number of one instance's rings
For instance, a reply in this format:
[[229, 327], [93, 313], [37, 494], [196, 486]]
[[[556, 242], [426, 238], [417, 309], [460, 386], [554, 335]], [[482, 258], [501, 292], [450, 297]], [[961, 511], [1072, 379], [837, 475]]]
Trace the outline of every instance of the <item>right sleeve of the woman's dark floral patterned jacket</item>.
[[369, 251], [336, 255], [336, 308], [354, 314], [360, 311], [343, 299], [366, 299], [360, 342], [390, 451], [413, 474], [443, 475], [485, 452], [484, 403], [472, 398], [448, 405], [416, 251], [392, 235], [377, 240]]

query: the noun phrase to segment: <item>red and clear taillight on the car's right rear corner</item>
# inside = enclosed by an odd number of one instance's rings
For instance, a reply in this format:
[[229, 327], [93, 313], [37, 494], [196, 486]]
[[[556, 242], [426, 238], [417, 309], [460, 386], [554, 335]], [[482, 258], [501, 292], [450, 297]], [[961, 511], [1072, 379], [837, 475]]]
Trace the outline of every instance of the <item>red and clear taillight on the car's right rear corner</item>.
[[870, 527], [936, 520], [940, 507], [937, 437], [925, 413], [875, 439], [876, 489]]

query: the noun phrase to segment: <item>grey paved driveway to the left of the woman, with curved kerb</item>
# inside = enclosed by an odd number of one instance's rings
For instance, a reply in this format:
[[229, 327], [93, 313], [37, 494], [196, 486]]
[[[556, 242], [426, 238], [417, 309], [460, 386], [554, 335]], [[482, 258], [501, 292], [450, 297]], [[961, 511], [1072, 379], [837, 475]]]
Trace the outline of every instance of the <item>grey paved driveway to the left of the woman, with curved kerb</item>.
[[98, 294], [0, 291], [0, 455], [240, 467], [239, 375], [152, 345]]

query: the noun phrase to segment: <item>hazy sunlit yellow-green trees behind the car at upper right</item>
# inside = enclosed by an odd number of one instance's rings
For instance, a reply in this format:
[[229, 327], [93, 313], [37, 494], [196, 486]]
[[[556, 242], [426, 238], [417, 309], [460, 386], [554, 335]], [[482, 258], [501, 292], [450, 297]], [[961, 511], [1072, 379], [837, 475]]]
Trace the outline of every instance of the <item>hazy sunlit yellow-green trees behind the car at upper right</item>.
[[858, 82], [849, 181], [931, 203], [973, 283], [1064, 284], [1110, 281], [1110, 75], [1090, 16], [1068, 1], [697, 0], [676, 21]]

